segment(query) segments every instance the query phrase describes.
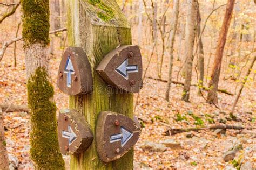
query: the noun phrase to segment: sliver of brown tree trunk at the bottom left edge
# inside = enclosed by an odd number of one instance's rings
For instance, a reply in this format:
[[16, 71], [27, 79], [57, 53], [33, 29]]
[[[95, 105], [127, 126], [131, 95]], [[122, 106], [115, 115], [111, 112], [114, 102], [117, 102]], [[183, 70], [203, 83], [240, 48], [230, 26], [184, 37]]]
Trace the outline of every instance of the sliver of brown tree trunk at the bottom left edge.
[[8, 154], [6, 150], [6, 141], [4, 137], [4, 123], [3, 112], [0, 107], [0, 169], [9, 169]]

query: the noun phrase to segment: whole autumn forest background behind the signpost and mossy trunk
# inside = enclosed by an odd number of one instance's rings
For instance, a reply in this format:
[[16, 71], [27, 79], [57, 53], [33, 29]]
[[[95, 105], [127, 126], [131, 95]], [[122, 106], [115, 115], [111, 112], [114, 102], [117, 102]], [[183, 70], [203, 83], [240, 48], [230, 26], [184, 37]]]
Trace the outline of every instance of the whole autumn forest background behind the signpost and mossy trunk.
[[[134, 94], [142, 126], [134, 169], [256, 168], [256, 1], [235, 1], [230, 23], [223, 23], [231, 2], [118, 1], [143, 58], [143, 88]], [[66, 17], [66, 1], [50, 0], [50, 32], [57, 30], [48, 44], [57, 114], [69, 107], [68, 95], [57, 87], [69, 46]], [[22, 26], [20, 2], [1, 0], [0, 128], [10, 169], [33, 169]], [[70, 157], [63, 158], [69, 169]]]

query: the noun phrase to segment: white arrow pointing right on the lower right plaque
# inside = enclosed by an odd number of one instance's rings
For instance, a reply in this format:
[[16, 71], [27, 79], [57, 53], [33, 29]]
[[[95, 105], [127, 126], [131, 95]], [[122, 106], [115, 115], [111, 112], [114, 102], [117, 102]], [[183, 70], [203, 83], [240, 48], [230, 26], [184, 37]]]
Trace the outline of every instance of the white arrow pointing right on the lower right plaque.
[[132, 132], [121, 126], [121, 133], [111, 135], [110, 143], [113, 143], [115, 141], [121, 141], [121, 146], [123, 147], [127, 143], [127, 141], [131, 139], [132, 136]]

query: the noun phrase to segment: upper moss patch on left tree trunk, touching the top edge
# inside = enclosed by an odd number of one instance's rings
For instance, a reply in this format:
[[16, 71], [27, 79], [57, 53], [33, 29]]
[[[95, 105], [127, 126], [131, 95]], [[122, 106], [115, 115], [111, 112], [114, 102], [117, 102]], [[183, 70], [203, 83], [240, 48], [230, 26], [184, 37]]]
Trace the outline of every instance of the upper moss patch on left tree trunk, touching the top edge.
[[24, 45], [49, 44], [49, 1], [22, 0]]

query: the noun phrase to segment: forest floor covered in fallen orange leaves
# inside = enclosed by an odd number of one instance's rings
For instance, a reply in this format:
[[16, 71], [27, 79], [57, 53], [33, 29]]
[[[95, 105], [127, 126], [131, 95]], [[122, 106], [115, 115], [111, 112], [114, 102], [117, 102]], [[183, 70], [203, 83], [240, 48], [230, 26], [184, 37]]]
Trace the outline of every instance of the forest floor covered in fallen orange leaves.
[[[14, 37], [9, 32], [9, 24], [13, 18], [1, 24], [0, 42]], [[3, 27], [2, 27], [3, 25]], [[17, 28], [17, 26], [14, 28]], [[19, 33], [20, 34], [20, 33]], [[64, 33], [65, 34], [65, 33]], [[59, 38], [55, 38], [55, 55], [50, 55], [52, 83], [55, 87], [55, 101], [59, 109], [68, 107], [68, 96], [57, 88], [57, 70], [62, 55]], [[0, 45], [1, 46], [1, 45]], [[150, 47], [149, 47], [150, 49]], [[142, 48], [144, 70], [148, 58], [147, 51]], [[148, 52], [149, 53], [149, 52]], [[25, 60], [22, 41], [17, 42], [17, 67], [14, 67], [14, 45], [8, 47], [0, 63], [0, 103], [27, 104]], [[157, 77], [157, 61], [153, 56], [147, 77]], [[168, 58], [164, 59], [163, 80], [167, 80]], [[180, 62], [174, 61], [173, 77], [177, 77]], [[221, 74], [224, 75], [224, 74]], [[237, 82], [220, 77], [219, 88], [234, 94]], [[192, 84], [196, 84], [196, 74]], [[174, 78], [176, 81], [176, 78]], [[183, 79], [180, 80], [181, 82]], [[206, 83], [205, 83], [206, 84]], [[256, 168], [256, 131], [227, 130], [223, 134], [212, 130], [184, 132], [166, 136], [165, 131], [172, 128], [188, 128], [195, 126], [236, 125], [256, 126], [256, 83], [251, 82], [242, 91], [235, 109], [234, 117], [230, 117], [234, 96], [219, 93], [217, 109], [207, 104], [198, 95], [198, 87], [191, 87], [190, 103], [180, 100], [183, 86], [172, 84], [170, 102], [164, 100], [166, 83], [146, 78], [143, 89], [139, 93], [136, 112], [134, 113], [142, 124], [142, 134], [134, 147], [134, 169], [232, 169], [240, 164], [246, 169]], [[206, 97], [206, 91], [203, 91]], [[134, 104], [137, 94], [134, 95]], [[18, 169], [32, 169], [29, 158], [29, 115], [26, 112], [4, 113], [5, 137], [9, 159], [12, 166]], [[169, 139], [169, 140], [167, 140]], [[167, 141], [165, 141], [167, 140]], [[169, 143], [163, 145], [161, 143]], [[240, 150], [233, 161], [225, 162], [224, 154], [236, 146]], [[69, 158], [65, 158], [68, 160]], [[66, 161], [68, 162], [68, 161]], [[66, 166], [69, 166], [68, 163]]]

